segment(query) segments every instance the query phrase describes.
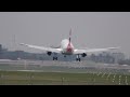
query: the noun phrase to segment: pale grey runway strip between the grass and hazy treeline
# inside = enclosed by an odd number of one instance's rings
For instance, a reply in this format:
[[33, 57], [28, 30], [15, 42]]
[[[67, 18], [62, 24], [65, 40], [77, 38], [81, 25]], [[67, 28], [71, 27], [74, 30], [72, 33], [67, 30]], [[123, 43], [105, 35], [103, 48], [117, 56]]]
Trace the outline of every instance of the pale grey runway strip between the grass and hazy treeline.
[[127, 73], [130, 66], [117, 64], [98, 64], [89, 60], [82, 61], [53, 61], [53, 60], [9, 60], [0, 59], [0, 70], [5, 71], [50, 71], [50, 72], [106, 72]]

